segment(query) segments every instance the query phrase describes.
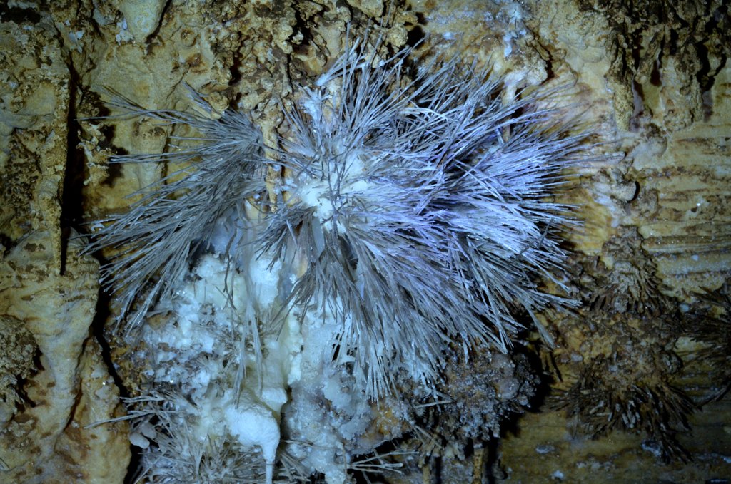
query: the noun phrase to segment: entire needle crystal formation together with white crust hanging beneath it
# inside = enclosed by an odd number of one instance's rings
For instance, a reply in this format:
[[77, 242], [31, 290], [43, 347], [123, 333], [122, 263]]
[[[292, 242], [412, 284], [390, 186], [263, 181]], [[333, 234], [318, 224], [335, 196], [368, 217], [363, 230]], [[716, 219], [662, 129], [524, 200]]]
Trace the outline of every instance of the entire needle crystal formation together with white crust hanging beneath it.
[[283, 418], [303, 475], [337, 482], [338, 452], [371, 451], [354, 443], [368, 399], [404, 381], [436, 394], [455, 347], [505, 352], [521, 321], [542, 329], [534, 313], [563, 301], [540, 284], [562, 285], [556, 232], [570, 216], [552, 196], [583, 137], [538, 107], [546, 93], [509, 96], [476, 64], [415, 67], [411, 50], [383, 49], [356, 42], [301, 88], [277, 146], [196, 94], [195, 114], [113, 98], [177, 135], [165, 153], [113, 160], [173, 172], [88, 247], [107, 249], [102, 277], [126, 329], [155, 304], [173, 314], [135, 331], [152, 366], [151, 391], [131, 402], [146, 475], [238, 478], [261, 455], [271, 482]]

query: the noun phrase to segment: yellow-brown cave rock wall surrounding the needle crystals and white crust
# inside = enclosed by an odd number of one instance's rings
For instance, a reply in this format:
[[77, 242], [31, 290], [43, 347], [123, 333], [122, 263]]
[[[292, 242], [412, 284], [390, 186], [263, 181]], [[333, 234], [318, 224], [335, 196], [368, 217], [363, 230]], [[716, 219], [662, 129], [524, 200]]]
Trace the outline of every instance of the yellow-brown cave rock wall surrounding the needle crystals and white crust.
[[170, 132], [85, 118], [108, 114], [110, 92], [184, 110], [187, 84], [250, 110], [271, 145], [292, 86], [368, 29], [394, 50], [423, 39], [424, 55], [489, 62], [507, 96], [569, 85], [569, 115], [596, 134], [567, 195], [582, 225], [567, 233], [566, 277], [582, 304], [541, 315], [556, 347], [533, 338], [529, 352], [544, 398], [502, 439], [442, 439], [389, 478], [730, 476], [731, 22], [719, 0], [675, 3], [0, 6], [0, 480], [121, 483], [130, 459], [124, 421], [90, 426], [124, 415], [110, 370], [126, 394], [139, 381], [129, 348], [103, 336], [109, 301], [75, 234], [172, 169], [109, 155], [161, 151]]

